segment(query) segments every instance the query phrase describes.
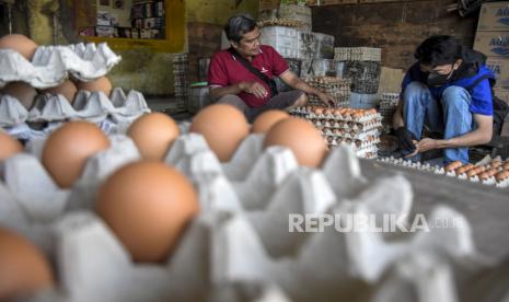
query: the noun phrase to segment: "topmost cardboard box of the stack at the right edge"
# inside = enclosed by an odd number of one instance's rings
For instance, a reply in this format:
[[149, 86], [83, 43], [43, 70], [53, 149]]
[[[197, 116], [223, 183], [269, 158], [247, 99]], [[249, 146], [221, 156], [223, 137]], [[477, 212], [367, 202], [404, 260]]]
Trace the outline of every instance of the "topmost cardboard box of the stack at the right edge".
[[484, 3], [477, 31], [509, 31], [509, 2]]

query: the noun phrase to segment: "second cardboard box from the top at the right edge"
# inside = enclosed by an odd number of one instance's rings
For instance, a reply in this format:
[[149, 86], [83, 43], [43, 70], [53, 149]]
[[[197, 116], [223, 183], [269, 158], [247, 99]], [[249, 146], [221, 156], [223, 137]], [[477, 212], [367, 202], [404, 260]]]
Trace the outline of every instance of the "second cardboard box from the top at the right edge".
[[509, 58], [509, 32], [477, 32], [474, 49], [488, 57]]

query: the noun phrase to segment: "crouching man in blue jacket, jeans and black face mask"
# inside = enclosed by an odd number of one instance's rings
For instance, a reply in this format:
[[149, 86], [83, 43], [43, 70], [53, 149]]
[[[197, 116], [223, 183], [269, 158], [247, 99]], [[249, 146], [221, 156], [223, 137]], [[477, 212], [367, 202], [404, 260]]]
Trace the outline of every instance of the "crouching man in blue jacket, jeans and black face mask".
[[[418, 60], [406, 72], [394, 128], [404, 155], [444, 149], [444, 164], [468, 162], [468, 148], [493, 136], [493, 97], [486, 56], [451, 36], [431, 36], [415, 51]], [[443, 139], [421, 138], [424, 126]]]

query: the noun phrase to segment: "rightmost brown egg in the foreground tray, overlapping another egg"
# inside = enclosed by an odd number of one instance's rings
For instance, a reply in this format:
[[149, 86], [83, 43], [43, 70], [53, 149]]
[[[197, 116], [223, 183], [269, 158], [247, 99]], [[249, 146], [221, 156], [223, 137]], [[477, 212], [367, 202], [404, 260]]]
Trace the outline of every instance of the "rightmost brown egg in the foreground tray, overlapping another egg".
[[317, 167], [321, 165], [327, 149], [322, 136], [313, 125], [301, 118], [287, 118], [267, 132], [264, 148], [284, 146], [296, 155], [300, 165]]

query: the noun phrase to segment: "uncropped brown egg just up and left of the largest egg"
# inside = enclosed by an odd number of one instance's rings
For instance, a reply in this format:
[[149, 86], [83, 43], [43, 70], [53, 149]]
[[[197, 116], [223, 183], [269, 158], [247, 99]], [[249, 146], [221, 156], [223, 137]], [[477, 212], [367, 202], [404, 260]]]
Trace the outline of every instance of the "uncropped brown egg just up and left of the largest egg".
[[62, 188], [80, 177], [86, 160], [109, 148], [109, 140], [92, 123], [70, 121], [53, 132], [43, 149], [43, 165]]

